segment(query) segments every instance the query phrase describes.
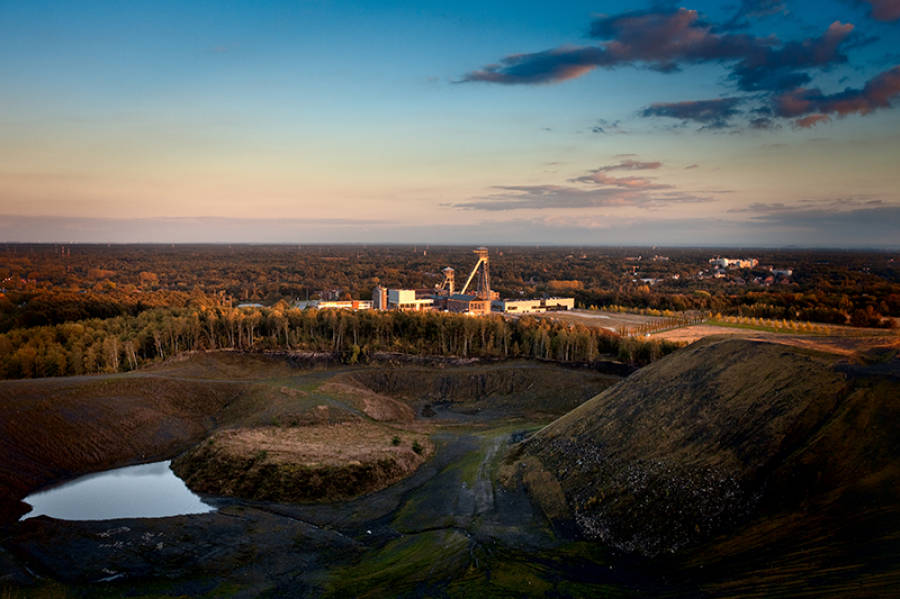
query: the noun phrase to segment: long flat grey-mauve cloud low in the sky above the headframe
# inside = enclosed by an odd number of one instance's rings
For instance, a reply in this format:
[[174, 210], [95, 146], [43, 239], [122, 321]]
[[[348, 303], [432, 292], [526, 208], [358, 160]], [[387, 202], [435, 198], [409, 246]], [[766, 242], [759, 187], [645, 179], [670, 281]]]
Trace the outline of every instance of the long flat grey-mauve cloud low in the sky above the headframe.
[[[670, 186], [665, 186], [666, 188]], [[567, 185], [502, 185], [498, 193], [454, 204], [462, 210], [544, 210], [548, 208], [659, 208], [669, 204], [710, 202], [712, 198], [681, 192], [647, 193], [650, 189], [601, 187], [585, 189]]]

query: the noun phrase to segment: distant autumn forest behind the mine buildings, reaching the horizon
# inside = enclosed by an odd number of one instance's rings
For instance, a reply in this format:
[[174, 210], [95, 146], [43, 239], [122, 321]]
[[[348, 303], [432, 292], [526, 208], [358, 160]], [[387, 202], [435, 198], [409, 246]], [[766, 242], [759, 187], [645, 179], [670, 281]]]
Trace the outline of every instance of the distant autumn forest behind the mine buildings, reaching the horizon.
[[[659, 255], [662, 254], [662, 255]], [[574, 296], [576, 305], [889, 327], [900, 317], [896, 252], [754, 250], [753, 269], [717, 278], [728, 248], [491, 248], [501, 297]], [[368, 299], [376, 285], [431, 288], [463, 275], [471, 247], [0, 245], [0, 332], [153, 308]], [[791, 276], [776, 275], [769, 267]]]

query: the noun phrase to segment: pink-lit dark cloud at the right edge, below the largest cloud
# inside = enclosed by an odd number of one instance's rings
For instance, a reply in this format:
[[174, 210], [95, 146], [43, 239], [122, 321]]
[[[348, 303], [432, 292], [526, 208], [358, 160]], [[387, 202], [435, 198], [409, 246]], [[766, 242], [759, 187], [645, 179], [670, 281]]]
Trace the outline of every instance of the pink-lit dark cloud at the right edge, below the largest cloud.
[[[900, 95], [900, 66], [876, 75], [862, 89], [846, 88], [836, 94], [823, 94], [819, 89], [797, 88], [776, 97], [775, 112], [778, 116], [794, 118], [812, 114], [818, 118], [808, 119], [811, 126], [821, 122], [829, 114], [866, 115], [879, 108], [890, 108], [891, 102]], [[801, 119], [804, 120], [804, 119]]]

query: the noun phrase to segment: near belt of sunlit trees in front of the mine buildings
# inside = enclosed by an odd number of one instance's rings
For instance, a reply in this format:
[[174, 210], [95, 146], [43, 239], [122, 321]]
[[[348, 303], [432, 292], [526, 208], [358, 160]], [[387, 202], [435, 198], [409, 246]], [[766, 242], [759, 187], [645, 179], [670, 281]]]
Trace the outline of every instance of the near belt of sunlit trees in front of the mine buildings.
[[548, 319], [435, 312], [350, 312], [188, 307], [13, 329], [0, 334], [4, 378], [133, 370], [187, 351], [237, 349], [332, 353], [347, 363], [375, 352], [591, 363], [610, 356], [647, 364], [678, 347]]

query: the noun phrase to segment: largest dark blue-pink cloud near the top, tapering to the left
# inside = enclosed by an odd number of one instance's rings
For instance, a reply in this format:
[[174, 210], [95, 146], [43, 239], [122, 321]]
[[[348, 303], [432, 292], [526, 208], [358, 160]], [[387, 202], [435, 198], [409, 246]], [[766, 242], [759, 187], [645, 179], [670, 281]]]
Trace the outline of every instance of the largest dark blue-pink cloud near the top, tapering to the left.
[[644, 65], [673, 72], [681, 64], [735, 62], [731, 76], [741, 90], [779, 91], [807, 83], [803, 69], [845, 62], [841, 45], [852, 30], [836, 21], [819, 37], [781, 43], [774, 36], [721, 33], [695, 10], [638, 10], [595, 19], [590, 35], [602, 40], [598, 45], [513, 54], [462, 81], [534, 85], [574, 79], [596, 68]]

